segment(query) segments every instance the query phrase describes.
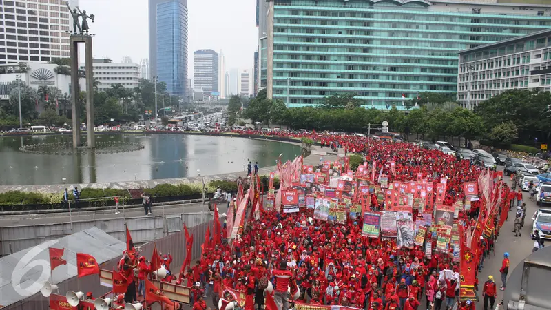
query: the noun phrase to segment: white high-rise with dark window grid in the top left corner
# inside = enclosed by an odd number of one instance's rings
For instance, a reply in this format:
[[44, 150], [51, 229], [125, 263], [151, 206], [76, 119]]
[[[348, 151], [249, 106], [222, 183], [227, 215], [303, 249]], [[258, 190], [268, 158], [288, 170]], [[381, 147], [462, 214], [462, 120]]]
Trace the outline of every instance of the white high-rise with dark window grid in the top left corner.
[[[72, 15], [64, 0], [2, 1], [0, 64], [70, 56]], [[70, 0], [71, 8], [79, 5]]]

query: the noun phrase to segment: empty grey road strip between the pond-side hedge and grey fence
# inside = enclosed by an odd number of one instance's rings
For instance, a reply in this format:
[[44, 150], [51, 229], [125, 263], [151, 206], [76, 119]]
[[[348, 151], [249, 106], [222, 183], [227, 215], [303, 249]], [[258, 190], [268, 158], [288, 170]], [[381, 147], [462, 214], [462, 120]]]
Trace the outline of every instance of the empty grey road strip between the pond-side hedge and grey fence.
[[[114, 218], [136, 218], [145, 216], [145, 211], [142, 207], [134, 207], [132, 209], [124, 209], [123, 206], [118, 207], [120, 214], [114, 214], [115, 209], [101, 210], [101, 211], [83, 211], [72, 212], [69, 216], [69, 212], [55, 213], [55, 214], [37, 214], [35, 215], [21, 215], [21, 216], [2, 216], [0, 217], [0, 227], [8, 226], [21, 226], [21, 225], [46, 225], [54, 223], [69, 223], [70, 221], [78, 222], [79, 220], [110, 220]], [[218, 207], [220, 214], [227, 211], [225, 206]], [[202, 203], [189, 203], [181, 205], [154, 205], [152, 206], [153, 215], [159, 214], [194, 214], [202, 211], [208, 211], [207, 202], [205, 205]]]

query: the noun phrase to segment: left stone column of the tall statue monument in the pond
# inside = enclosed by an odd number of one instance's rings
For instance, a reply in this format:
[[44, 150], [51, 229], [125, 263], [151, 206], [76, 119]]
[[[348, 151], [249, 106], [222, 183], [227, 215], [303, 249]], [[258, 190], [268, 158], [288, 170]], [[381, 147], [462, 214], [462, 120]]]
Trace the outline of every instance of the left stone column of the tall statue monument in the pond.
[[79, 111], [79, 41], [75, 36], [70, 37], [71, 49], [71, 118], [73, 149], [81, 145], [81, 114]]

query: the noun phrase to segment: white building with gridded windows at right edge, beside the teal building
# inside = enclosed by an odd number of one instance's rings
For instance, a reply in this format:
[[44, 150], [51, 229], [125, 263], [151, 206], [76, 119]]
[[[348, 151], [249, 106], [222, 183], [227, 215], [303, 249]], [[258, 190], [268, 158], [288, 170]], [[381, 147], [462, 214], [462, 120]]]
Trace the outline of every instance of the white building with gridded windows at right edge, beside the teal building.
[[472, 109], [514, 89], [551, 90], [551, 30], [459, 52], [457, 101]]

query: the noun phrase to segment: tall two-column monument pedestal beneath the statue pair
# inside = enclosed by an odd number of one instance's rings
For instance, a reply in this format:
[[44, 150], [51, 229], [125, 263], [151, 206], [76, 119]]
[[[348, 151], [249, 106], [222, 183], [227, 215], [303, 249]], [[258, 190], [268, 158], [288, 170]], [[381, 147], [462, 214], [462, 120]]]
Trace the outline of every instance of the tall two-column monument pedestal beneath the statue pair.
[[79, 110], [79, 43], [84, 43], [85, 70], [86, 70], [86, 127], [87, 148], [96, 147], [94, 136], [94, 71], [92, 65], [92, 37], [83, 34], [70, 36], [71, 50], [71, 105], [73, 125], [73, 147], [81, 146], [81, 114]]

